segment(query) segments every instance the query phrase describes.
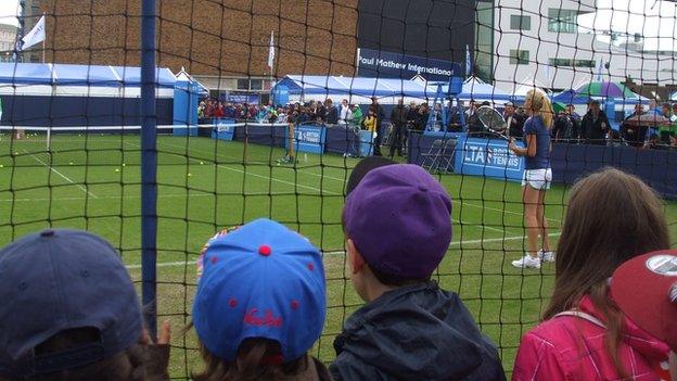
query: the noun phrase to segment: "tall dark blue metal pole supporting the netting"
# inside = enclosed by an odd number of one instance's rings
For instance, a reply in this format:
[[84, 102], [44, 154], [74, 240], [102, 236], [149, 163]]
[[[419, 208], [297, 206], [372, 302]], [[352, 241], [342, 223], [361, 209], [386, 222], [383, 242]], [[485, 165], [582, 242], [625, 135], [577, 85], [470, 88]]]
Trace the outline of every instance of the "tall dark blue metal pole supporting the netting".
[[155, 336], [157, 333], [155, 0], [143, 0], [141, 8], [141, 299], [146, 328]]

